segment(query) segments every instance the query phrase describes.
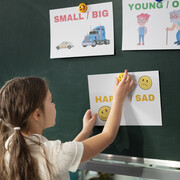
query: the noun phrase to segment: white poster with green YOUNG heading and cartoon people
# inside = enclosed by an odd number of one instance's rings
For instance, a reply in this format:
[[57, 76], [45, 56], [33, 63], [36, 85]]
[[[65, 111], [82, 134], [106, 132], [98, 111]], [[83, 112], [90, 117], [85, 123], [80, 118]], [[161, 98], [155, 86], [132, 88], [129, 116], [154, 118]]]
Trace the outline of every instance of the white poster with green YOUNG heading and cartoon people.
[[180, 49], [180, 1], [123, 0], [122, 50]]

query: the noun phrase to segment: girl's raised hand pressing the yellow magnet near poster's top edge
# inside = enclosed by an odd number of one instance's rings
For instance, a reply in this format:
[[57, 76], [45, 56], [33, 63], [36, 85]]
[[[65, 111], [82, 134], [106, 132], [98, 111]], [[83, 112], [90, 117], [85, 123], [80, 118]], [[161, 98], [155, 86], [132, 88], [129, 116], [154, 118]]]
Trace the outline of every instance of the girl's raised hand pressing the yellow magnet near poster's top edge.
[[128, 74], [128, 71], [125, 70], [124, 77], [121, 82], [116, 79], [114, 86], [114, 100], [119, 102], [124, 102], [128, 94], [134, 89], [135, 83], [132, 77]]

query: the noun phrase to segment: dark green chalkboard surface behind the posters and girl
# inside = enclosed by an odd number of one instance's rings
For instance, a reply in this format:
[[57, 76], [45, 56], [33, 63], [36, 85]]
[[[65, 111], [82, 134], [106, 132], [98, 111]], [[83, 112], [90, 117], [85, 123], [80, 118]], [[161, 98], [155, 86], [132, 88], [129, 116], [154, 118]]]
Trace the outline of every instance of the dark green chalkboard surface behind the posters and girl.
[[[108, 2], [84, 1], [87, 4]], [[0, 85], [16, 76], [45, 77], [56, 103], [49, 139], [73, 140], [89, 108], [87, 75], [159, 70], [162, 127], [120, 127], [104, 153], [180, 161], [180, 51], [121, 51], [122, 2], [112, 0], [115, 55], [50, 59], [49, 10], [78, 6], [76, 0], [0, 0]], [[102, 127], [95, 127], [94, 134]]]

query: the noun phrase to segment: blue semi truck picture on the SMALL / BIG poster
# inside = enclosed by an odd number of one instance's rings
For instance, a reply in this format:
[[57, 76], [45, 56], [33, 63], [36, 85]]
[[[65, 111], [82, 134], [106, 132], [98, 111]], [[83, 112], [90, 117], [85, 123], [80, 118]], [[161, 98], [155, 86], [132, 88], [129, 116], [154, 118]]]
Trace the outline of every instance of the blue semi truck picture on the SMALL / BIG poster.
[[93, 30], [89, 32], [88, 35], [85, 36], [84, 40], [82, 41], [82, 46], [92, 46], [95, 47], [96, 45], [102, 44], [110, 44], [110, 40], [106, 39], [105, 36], [105, 27], [104, 26], [97, 26]]

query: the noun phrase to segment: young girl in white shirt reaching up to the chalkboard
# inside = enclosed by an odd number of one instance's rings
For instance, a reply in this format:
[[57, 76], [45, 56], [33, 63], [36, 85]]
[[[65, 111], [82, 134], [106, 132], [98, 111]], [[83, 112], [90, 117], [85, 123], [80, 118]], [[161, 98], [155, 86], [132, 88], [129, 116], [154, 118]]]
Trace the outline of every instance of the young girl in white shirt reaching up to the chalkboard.
[[103, 131], [88, 138], [96, 114], [88, 110], [83, 129], [72, 142], [48, 141], [45, 128], [55, 125], [56, 110], [45, 80], [37, 77], [12, 79], [0, 90], [1, 180], [68, 180], [81, 162], [91, 159], [116, 137], [123, 102], [134, 88], [127, 70], [116, 80], [112, 108]]

